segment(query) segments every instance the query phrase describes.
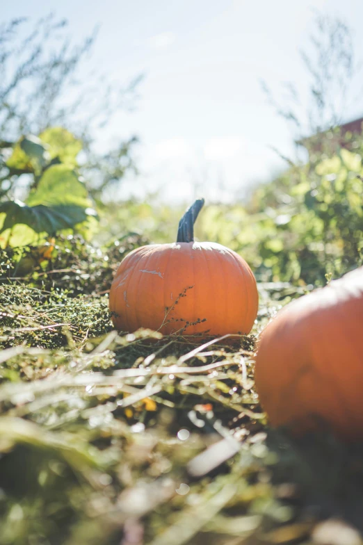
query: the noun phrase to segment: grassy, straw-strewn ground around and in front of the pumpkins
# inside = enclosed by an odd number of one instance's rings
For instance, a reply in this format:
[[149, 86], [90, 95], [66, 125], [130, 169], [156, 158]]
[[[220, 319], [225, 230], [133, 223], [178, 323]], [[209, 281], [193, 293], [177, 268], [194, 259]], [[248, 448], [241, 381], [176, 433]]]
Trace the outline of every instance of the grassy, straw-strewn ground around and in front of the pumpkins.
[[272, 430], [255, 391], [259, 333], [304, 289], [259, 284], [249, 336], [117, 334], [141, 243], [1, 254], [1, 544], [360, 544], [362, 446]]

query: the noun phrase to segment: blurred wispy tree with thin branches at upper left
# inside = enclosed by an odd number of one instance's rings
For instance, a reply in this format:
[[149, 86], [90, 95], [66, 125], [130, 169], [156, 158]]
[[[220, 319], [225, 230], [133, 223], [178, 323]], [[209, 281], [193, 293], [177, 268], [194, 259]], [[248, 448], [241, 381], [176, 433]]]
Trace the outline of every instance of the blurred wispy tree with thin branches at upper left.
[[133, 106], [142, 76], [124, 88], [109, 83], [104, 74], [93, 73], [82, 83], [79, 72], [92, 53], [97, 29], [74, 45], [65, 19], [48, 15], [28, 33], [27, 24], [19, 18], [0, 25], [0, 197], [13, 197], [19, 177], [29, 173], [27, 165], [7, 163], [15, 144], [50, 127], [68, 129], [82, 140], [80, 171], [92, 196], [99, 197], [127, 170], [136, 170], [136, 137], [116, 143], [106, 154], [97, 151], [94, 138], [116, 111]]

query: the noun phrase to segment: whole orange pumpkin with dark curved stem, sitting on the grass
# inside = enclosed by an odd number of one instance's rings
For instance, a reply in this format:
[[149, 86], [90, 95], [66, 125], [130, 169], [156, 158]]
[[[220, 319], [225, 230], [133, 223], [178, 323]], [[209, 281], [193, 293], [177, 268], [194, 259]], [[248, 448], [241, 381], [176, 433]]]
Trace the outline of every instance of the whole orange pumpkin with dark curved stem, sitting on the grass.
[[136, 248], [121, 262], [110, 291], [118, 330], [162, 334], [248, 334], [258, 307], [248, 264], [227, 247], [195, 242], [193, 225], [204, 200], [179, 222], [177, 242]]

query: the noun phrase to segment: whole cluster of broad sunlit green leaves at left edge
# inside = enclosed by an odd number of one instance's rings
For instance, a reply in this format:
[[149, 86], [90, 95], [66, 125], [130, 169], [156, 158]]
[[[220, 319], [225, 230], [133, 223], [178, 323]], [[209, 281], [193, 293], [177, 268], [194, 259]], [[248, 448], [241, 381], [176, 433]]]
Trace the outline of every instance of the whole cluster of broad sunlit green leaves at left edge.
[[40, 136], [22, 137], [6, 162], [10, 170], [26, 171], [33, 181], [26, 204], [0, 202], [2, 247], [32, 244], [69, 229], [86, 235], [95, 222], [97, 213], [75, 170], [81, 142], [61, 127]]

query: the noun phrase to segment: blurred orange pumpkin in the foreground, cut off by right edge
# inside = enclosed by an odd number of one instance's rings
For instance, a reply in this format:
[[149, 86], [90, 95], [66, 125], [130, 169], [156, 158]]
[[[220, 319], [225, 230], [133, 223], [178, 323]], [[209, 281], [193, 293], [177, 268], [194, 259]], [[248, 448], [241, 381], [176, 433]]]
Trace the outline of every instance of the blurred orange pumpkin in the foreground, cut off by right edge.
[[277, 313], [261, 334], [255, 382], [272, 425], [363, 438], [363, 267]]

